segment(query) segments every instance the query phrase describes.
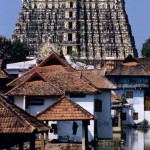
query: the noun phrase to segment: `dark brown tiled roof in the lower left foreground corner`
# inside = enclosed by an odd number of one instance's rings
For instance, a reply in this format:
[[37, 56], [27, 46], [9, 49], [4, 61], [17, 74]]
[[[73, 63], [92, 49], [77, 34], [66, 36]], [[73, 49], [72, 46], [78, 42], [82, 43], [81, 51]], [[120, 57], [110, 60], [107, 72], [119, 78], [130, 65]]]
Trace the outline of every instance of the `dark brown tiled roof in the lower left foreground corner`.
[[0, 95], [0, 133], [33, 133], [49, 128]]

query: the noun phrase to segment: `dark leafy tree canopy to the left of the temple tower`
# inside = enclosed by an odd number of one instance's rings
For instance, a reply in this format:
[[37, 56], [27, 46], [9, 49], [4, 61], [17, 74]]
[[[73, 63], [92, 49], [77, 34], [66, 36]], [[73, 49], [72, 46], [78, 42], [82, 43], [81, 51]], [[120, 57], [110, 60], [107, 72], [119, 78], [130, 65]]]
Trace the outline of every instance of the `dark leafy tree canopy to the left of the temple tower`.
[[21, 42], [19, 39], [10, 41], [0, 36], [0, 59], [3, 59], [5, 63], [25, 61], [26, 57], [32, 51], [33, 48], [30, 48], [25, 42]]

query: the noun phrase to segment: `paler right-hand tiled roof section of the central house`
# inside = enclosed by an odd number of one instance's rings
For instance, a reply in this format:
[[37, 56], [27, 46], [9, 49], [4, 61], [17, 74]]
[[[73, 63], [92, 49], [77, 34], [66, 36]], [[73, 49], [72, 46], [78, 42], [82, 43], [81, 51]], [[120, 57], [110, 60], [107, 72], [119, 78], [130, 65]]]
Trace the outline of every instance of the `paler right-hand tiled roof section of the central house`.
[[116, 89], [117, 88], [106, 77], [100, 75], [100, 71], [98, 69], [84, 70], [82, 71], [82, 76], [85, 77], [85, 79], [91, 82], [98, 89]]

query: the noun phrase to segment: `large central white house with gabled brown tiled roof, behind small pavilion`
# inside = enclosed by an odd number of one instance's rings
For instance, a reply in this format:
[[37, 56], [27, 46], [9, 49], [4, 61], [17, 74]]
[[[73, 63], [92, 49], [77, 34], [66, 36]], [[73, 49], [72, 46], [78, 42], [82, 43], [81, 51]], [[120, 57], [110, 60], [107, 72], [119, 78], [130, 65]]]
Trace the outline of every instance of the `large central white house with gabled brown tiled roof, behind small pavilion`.
[[[18, 77], [8, 84], [11, 90], [6, 95], [13, 98], [13, 103], [18, 107], [28, 111], [33, 116], [47, 110], [48, 107], [54, 108], [54, 103], [62, 96], [67, 96], [80, 109], [95, 116], [95, 120], [90, 120], [88, 126], [88, 140], [95, 137], [100, 139], [112, 138], [112, 119], [111, 119], [111, 89], [116, 89], [108, 79], [100, 75], [96, 70], [75, 70], [70, 67], [58, 54], [52, 52], [40, 64]], [[66, 104], [63, 104], [66, 107]], [[59, 136], [72, 137], [72, 124], [76, 121], [78, 131], [76, 141], [82, 140], [82, 119], [74, 118], [74, 114], [61, 115], [61, 119], [56, 119], [55, 113], [47, 115], [50, 120], [48, 124], [57, 126], [58, 133], [49, 132], [49, 138], [59, 138]], [[75, 110], [78, 110], [75, 108]], [[72, 111], [72, 110], [71, 110]], [[70, 111], [70, 112], [71, 112]], [[84, 113], [82, 114], [84, 115]], [[70, 119], [68, 119], [68, 116]], [[58, 116], [56, 116], [58, 117]], [[55, 120], [56, 119], [56, 120]], [[62, 122], [63, 119], [63, 122]], [[64, 121], [65, 120], [65, 121]], [[55, 121], [55, 122], [54, 122]], [[59, 121], [59, 122], [58, 122]]]

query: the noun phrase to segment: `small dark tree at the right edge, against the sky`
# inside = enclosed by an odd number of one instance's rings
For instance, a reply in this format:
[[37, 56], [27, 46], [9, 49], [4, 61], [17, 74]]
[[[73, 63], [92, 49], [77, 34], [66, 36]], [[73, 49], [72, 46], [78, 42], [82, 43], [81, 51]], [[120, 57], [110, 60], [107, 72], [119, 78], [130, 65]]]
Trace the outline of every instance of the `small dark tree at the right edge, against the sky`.
[[150, 57], [150, 38], [144, 42], [142, 46], [141, 54], [144, 57]]

